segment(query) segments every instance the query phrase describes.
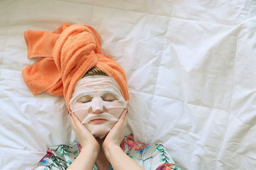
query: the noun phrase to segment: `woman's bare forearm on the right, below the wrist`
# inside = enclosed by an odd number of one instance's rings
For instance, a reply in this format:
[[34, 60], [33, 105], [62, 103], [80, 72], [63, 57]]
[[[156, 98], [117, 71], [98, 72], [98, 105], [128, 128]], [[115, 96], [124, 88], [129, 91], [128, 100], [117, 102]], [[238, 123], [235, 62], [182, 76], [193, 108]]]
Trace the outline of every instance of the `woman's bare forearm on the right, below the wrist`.
[[104, 153], [109, 160], [111, 166], [115, 170], [142, 170], [137, 162], [132, 160], [124, 151], [120, 148], [120, 146], [113, 145], [104, 149]]

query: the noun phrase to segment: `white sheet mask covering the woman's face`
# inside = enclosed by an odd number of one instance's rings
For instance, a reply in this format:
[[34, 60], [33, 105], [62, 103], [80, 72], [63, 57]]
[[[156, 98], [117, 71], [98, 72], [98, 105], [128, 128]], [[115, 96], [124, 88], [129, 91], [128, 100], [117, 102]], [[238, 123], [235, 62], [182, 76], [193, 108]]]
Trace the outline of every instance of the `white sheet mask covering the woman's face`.
[[[127, 106], [116, 81], [109, 76], [86, 76], [77, 81], [70, 110], [93, 136], [104, 138]], [[103, 123], [90, 122], [96, 118]]]

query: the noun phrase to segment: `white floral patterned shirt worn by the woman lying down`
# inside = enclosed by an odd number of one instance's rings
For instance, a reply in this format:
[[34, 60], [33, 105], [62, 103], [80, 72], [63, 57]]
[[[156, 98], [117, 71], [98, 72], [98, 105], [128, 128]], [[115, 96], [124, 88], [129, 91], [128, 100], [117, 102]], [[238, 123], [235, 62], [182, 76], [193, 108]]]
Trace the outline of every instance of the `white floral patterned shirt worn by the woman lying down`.
[[[170, 158], [163, 145], [136, 143], [133, 141], [133, 135], [131, 135], [124, 138], [120, 147], [144, 169], [180, 170]], [[47, 154], [33, 170], [67, 169], [79, 155], [80, 151], [81, 145], [79, 143], [51, 146], [47, 149]], [[94, 164], [93, 170], [98, 170], [96, 164]], [[109, 165], [108, 170], [113, 170], [111, 165]]]

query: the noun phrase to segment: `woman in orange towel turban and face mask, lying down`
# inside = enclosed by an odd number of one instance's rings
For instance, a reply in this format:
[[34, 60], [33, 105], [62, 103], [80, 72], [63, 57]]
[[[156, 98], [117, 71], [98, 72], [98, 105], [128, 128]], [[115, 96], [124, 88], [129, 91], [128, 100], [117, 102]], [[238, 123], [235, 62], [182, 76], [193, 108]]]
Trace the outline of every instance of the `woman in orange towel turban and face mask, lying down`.
[[35, 169], [179, 169], [162, 145], [124, 138], [127, 80], [124, 69], [102, 54], [99, 34], [67, 23], [53, 33], [24, 33], [28, 56], [45, 58], [22, 75], [33, 94], [63, 94], [78, 143], [51, 146]]

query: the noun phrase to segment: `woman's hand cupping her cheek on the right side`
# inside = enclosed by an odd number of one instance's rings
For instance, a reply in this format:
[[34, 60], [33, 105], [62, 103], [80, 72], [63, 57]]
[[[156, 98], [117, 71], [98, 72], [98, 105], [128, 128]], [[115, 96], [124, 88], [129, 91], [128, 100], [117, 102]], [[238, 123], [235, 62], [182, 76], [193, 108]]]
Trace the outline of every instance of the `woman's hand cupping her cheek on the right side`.
[[120, 143], [124, 139], [125, 128], [127, 127], [127, 108], [123, 111], [122, 115], [114, 125], [114, 127], [109, 131], [104, 142], [102, 143], [102, 148], [110, 148], [111, 146], [120, 146]]

